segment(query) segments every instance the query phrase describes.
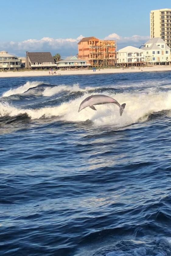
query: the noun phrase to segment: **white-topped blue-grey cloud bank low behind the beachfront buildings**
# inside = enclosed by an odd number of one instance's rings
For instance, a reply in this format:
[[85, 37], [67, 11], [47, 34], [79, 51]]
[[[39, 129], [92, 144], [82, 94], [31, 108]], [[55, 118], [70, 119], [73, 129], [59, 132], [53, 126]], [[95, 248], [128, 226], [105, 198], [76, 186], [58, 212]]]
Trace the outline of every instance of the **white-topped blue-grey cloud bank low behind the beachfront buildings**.
[[[62, 58], [78, 53], [77, 43], [83, 38], [80, 35], [76, 39], [54, 39], [44, 37], [38, 39], [28, 39], [21, 42], [0, 42], [0, 51], [6, 50], [16, 56], [25, 56], [26, 51], [50, 51], [52, 55], [59, 53]], [[125, 46], [139, 47], [142, 43], [148, 41], [149, 36], [132, 35], [131, 37], [122, 37], [116, 33], [112, 33], [104, 38], [105, 40], [117, 40], [117, 50]]]

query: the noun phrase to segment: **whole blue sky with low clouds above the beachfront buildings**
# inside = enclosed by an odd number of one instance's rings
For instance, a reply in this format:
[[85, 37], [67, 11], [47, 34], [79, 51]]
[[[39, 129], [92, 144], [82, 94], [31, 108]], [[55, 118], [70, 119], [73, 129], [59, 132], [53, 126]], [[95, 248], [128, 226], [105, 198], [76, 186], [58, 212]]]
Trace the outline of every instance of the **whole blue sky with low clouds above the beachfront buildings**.
[[163, 8], [171, 8], [171, 0], [1, 0], [0, 51], [65, 58], [88, 36], [116, 39], [117, 50], [139, 47], [150, 37], [150, 11]]

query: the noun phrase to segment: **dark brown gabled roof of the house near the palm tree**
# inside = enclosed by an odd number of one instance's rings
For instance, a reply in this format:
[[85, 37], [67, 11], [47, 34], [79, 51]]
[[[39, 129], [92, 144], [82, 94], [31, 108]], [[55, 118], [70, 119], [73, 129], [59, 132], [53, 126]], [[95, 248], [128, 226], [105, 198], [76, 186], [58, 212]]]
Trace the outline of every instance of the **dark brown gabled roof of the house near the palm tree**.
[[35, 62], [53, 62], [54, 58], [50, 52], [29, 52], [29, 58], [32, 63]]

